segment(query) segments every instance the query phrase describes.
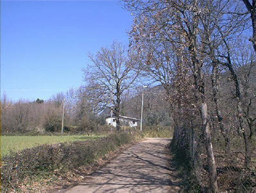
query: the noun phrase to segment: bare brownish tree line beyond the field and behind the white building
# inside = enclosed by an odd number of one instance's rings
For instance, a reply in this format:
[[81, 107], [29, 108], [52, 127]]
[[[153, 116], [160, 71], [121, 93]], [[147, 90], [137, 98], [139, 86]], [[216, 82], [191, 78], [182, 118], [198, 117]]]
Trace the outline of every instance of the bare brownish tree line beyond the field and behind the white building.
[[[149, 89], [151, 92], [156, 88]], [[157, 89], [159, 90], [159, 89]], [[160, 91], [164, 94], [164, 90]], [[93, 110], [92, 101], [86, 96], [86, 89], [70, 89], [60, 92], [50, 99], [12, 101], [4, 94], [1, 97], [1, 133], [2, 134], [45, 134], [61, 132], [61, 120], [64, 108], [64, 131], [88, 133], [109, 131], [105, 118], [111, 115], [110, 108], [99, 107]], [[170, 125], [169, 103], [162, 97], [148, 94], [144, 98], [143, 125]], [[120, 103], [120, 115], [140, 118], [141, 90], [125, 92]], [[115, 115], [113, 115], [115, 116]], [[137, 128], [138, 129], [138, 128]]]

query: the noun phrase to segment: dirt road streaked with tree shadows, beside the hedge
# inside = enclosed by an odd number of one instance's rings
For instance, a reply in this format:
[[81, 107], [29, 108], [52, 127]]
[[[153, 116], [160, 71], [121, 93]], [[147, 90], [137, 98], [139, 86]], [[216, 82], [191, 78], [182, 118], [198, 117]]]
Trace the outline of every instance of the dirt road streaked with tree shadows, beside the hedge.
[[148, 138], [87, 176], [84, 183], [61, 192], [179, 192], [168, 143], [170, 139]]

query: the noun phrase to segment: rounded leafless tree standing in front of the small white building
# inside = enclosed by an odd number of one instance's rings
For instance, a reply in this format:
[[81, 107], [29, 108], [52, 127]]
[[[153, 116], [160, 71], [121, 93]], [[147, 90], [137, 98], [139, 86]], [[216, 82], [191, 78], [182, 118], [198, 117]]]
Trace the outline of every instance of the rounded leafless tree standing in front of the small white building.
[[120, 131], [121, 95], [139, 75], [139, 71], [132, 69], [136, 57], [116, 41], [110, 47], [101, 48], [96, 55], [88, 56], [92, 64], [83, 71], [91, 99], [97, 102], [99, 111], [114, 106], [116, 129]]

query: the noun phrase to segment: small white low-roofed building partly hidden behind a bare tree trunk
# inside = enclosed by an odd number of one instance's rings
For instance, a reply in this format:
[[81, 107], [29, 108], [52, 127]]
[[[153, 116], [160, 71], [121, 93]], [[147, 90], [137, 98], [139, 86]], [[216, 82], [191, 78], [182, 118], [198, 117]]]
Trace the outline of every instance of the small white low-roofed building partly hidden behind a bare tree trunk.
[[[119, 120], [120, 120], [121, 126], [127, 126], [127, 127], [136, 127], [136, 126], [138, 126], [138, 123], [140, 122], [140, 119], [125, 117], [122, 115], [119, 115]], [[115, 117], [111, 117], [111, 116], [106, 117], [106, 122], [108, 125], [112, 125], [113, 127], [116, 127], [116, 118]]]

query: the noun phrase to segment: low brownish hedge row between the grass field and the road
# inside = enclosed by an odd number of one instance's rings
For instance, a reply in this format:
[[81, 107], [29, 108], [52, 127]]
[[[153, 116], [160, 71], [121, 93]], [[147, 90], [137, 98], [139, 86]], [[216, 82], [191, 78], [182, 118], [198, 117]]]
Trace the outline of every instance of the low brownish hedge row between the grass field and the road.
[[10, 154], [1, 162], [2, 190], [16, 189], [25, 178], [51, 175], [56, 169], [77, 169], [132, 140], [131, 134], [111, 134], [95, 140], [40, 145]]

